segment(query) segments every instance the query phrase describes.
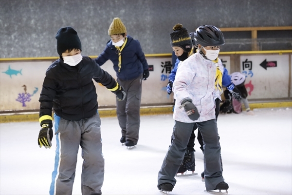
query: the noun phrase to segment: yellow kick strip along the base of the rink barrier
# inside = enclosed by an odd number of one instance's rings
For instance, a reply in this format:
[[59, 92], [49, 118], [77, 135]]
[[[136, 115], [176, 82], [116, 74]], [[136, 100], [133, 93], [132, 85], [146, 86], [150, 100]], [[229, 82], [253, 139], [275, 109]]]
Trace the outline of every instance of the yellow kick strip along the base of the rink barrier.
[[[292, 101], [283, 101], [283, 102], [263, 102], [263, 103], [250, 103], [251, 110], [260, 109], [260, 108], [287, 108], [292, 107]], [[243, 106], [244, 108], [244, 106]], [[169, 115], [173, 114], [173, 106], [164, 106], [164, 107], [141, 107], [140, 115]], [[245, 110], [245, 109], [243, 109]], [[98, 110], [100, 117], [116, 117], [116, 110], [113, 109], [100, 109]], [[54, 115], [52, 114], [54, 117]], [[31, 113], [14, 113], [11, 115], [0, 115], [0, 123], [8, 122], [28, 122], [33, 121], [37, 122], [39, 119], [38, 112], [33, 114]]]

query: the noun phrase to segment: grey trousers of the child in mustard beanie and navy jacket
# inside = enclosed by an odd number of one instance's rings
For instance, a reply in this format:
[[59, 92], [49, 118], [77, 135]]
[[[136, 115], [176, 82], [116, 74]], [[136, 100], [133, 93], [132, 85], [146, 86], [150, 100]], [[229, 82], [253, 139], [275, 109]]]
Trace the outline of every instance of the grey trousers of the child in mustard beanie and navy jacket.
[[119, 125], [122, 129], [122, 136], [126, 137], [126, 140], [129, 139], [137, 143], [140, 129], [142, 75], [132, 80], [121, 80], [118, 78], [117, 82], [123, 86], [126, 92], [125, 100], [116, 100], [116, 112]]

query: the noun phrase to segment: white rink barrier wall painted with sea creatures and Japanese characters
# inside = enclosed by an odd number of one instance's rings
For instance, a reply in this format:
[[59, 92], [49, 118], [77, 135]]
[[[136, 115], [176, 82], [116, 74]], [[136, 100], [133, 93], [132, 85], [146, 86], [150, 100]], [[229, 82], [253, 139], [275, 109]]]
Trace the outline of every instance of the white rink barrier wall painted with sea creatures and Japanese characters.
[[[172, 66], [171, 55], [170, 53], [146, 54], [149, 68], [152, 70], [150, 70], [150, 77], [142, 82], [142, 115], [146, 113], [171, 113], [170, 107], [167, 111], [158, 109], [158, 107], [173, 104], [173, 94], [168, 95], [166, 92], [171, 70], [169, 66]], [[245, 85], [249, 92], [248, 100], [256, 103], [264, 102], [265, 105], [267, 102], [292, 100], [291, 56], [292, 50], [237, 51], [220, 52], [219, 54], [219, 58], [229, 74], [241, 72], [246, 75]], [[90, 57], [94, 59], [97, 56]], [[0, 115], [38, 112], [38, 98], [45, 71], [58, 58], [0, 59]], [[264, 61], [271, 62], [274, 67], [262, 67], [261, 63]], [[110, 60], [101, 67], [115, 78], [116, 73]], [[102, 115], [115, 116], [115, 113], [112, 113], [115, 111], [106, 111], [106, 109], [112, 110], [116, 106], [114, 94], [99, 83], [94, 82], [94, 85], [98, 94], [99, 108], [103, 108], [100, 109]], [[29, 97], [26, 97], [28, 95]], [[151, 112], [147, 111], [151, 106], [156, 107], [151, 108]], [[260, 107], [260, 104], [256, 104], [257, 107]], [[163, 109], [165, 108], [163, 107]], [[28, 116], [28, 120], [30, 120], [29, 117], [31, 116]]]

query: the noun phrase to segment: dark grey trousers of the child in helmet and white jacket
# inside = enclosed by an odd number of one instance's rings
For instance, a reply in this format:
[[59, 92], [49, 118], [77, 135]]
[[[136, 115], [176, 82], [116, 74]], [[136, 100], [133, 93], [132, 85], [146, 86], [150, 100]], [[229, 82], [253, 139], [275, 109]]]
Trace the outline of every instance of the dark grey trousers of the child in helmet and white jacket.
[[168, 148], [163, 164], [158, 173], [158, 186], [163, 183], [176, 184], [174, 178], [183, 161], [186, 146], [193, 131], [194, 125], [200, 129], [204, 143], [204, 173], [206, 190], [214, 190], [224, 181], [220, 162], [220, 143], [216, 119], [197, 123], [184, 123], [175, 120], [172, 142]]

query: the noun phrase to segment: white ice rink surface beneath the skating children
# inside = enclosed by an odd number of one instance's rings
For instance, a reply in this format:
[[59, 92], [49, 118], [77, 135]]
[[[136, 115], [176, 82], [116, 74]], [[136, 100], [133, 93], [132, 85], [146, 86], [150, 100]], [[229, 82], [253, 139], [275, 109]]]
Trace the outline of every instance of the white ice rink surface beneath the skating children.
[[[223, 177], [229, 195], [292, 194], [292, 109], [255, 109], [219, 115], [218, 129]], [[128, 150], [120, 143], [116, 117], [101, 118], [105, 158], [104, 195], [160, 195], [157, 176], [170, 144], [172, 115], [141, 117], [140, 138]], [[0, 124], [0, 194], [48, 195], [54, 168], [55, 136], [51, 149], [39, 148], [38, 122]], [[196, 135], [198, 130], [196, 130]], [[176, 177], [170, 195], [207, 195], [201, 181], [203, 154], [195, 141], [196, 176]], [[81, 195], [81, 150], [73, 195]]]

